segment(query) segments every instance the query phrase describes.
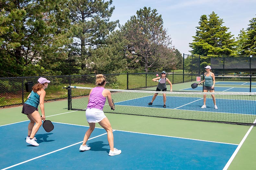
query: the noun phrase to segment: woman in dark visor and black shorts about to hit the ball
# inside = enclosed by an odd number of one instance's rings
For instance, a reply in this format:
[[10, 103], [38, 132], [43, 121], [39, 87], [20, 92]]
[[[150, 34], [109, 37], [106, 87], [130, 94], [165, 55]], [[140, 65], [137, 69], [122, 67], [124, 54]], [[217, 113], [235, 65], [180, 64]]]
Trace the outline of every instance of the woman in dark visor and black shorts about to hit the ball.
[[[162, 82], [160, 79], [162, 79], [164, 81]], [[166, 82], [168, 82], [170, 84], [170, 91], [172, 91], [172, 84], [171, 84], [170, 80], [168, 78], [166, 78], [165, 71], [163, 71], [161, 73], [160, 77], [153, 78], [152, 81], [158, 82], [156, 91], [161, 91], [162, 90], [163, 92], [166, 92], [166, 90], [167, 90]], [[148, 105], [153, 105], [153, 102], [156, 99], [157, 95], [158, 95], [158, 93], [154, 94], [151, 102], [149, 102]], [[164, 98], [164, 106], [163, 107], [166, 108], [166, 105], [165, 105], [165, 103], [166, 103], [166, 94], [163, 94], [163, 98]]]

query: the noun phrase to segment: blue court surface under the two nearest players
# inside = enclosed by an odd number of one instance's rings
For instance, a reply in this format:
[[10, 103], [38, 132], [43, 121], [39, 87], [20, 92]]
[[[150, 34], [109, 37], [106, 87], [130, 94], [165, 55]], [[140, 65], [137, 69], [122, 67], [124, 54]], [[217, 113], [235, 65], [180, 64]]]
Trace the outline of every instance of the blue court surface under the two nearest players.
[[121, 155], [109, 156], [106, 131], [95, 128], [79, 151], [87, 126], [56, 123], [50, 133], [41, 127], [39, 146], [26, 143], [29, 121], [0, 126], [0, 169], [179, 169], [221, 170], [238, 145], [114, 130]]

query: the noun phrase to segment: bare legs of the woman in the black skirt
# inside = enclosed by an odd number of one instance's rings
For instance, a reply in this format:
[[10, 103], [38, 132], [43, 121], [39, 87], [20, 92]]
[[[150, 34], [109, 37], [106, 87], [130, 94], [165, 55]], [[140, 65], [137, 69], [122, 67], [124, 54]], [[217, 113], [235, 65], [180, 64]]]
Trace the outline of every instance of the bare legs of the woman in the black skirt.
[[37, 110], [35, 110], [33, 113], [27, 115], [30, 122], [28, 126], [28, 136], [30, 138], [34, 138], [37, 131], [39, 130], [40, 126], [42, 125], [42, 119]]

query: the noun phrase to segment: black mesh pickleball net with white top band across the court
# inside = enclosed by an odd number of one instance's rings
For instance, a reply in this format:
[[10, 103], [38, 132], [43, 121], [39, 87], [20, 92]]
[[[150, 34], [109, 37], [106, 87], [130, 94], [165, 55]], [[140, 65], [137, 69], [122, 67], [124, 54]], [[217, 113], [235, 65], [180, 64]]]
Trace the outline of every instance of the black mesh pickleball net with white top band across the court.
[[[69, 86], [67, 89], [68, 109], [85, 111], [92, 88]], [[256, 125], [256, 93], [108, 90], [115, 101], [115, 110], [111, 110], [106, 100], [103, 108], [105, 113]], [[158, 93], [155, 101], [148, 105], [155, 93]], [[163, 94], [166, 95], [166, 108], [163, 107]], [[203, 95], [206, 95], [206, 108], [201, 108], [204, 104]], [[215, 96], [218, 109], [215, 109], [212, 95]]]

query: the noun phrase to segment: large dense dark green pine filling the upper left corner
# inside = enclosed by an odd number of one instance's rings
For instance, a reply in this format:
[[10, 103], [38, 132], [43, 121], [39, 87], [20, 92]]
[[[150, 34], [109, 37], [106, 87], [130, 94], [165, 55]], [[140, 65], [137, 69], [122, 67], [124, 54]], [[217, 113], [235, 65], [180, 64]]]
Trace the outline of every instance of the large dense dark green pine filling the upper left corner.
[[58, 74], [51, 71], [69, 44], [66, 0], [1, 0], [2, 76]]

